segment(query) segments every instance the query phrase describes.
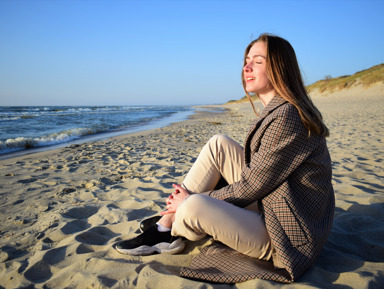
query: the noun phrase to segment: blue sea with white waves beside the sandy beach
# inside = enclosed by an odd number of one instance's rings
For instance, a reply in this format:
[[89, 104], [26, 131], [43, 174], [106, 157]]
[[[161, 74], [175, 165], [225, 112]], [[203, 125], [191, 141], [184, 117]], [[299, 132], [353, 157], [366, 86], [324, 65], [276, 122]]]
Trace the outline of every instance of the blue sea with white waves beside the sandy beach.
[[186, 119], [192, 106], [0, 106], [0, 157], [106, 139]]

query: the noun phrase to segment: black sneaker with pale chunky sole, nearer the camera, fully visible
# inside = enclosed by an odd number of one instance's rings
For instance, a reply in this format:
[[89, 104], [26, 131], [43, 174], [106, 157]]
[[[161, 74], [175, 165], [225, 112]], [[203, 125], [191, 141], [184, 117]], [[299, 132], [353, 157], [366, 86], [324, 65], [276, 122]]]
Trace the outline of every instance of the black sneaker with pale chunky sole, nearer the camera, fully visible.
[[150, 255], [154, 252], [172, 255], [181, 252], [184, 247], [181, 237], [172, 237], [170, 231], [159, 232], [157, 225], [154, 225], [133, 239], [119, 242], [116, 250], [134, 256]]

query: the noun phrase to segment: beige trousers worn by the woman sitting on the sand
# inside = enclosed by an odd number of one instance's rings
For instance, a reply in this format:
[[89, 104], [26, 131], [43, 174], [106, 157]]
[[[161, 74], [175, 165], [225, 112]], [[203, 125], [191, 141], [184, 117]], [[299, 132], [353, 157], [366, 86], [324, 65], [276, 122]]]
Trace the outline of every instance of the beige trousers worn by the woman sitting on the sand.
[[193, 193], [177, 209], [172, 235], [197, 241], [214, 240], [251, 257], [268, 260], [272, 245], [262, 215], [255, 204], [240, 208], [203, 194], [223, 177], [228, 184], [240, 180], [243, 149], [234, 140], [216, 135], [203, 147], [183, 186]]

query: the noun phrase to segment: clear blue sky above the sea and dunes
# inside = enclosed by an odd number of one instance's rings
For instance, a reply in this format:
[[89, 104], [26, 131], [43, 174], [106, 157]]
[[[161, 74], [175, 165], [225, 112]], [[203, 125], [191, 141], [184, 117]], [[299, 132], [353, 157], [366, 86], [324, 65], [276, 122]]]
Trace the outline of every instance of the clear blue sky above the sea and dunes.
[[0, 0], [0, 105], [213, 104], [270, 32], [306, 84], [384, 62], [384, 1]]

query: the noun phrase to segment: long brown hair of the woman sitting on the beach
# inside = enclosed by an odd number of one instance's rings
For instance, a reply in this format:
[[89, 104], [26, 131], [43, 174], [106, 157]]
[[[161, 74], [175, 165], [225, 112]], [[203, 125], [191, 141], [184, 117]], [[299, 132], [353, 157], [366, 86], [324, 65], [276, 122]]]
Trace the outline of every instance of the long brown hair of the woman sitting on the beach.
[[[261, 34], [246, 48], [244, 66], [249, 50], [259, 41], [263, 42], [267, 48], [267, 77], [276, 93], [296, 107], [309, 134], [328, 136], [329, 130], [323, 122], [320, 111], [315, 107], [305, 89], [296, 53], [287, 40], [272, 34]], [[252, 100], [245, 89], [244, 74], [241, 79], [245, 93], [254, 109]]]

